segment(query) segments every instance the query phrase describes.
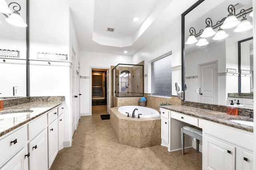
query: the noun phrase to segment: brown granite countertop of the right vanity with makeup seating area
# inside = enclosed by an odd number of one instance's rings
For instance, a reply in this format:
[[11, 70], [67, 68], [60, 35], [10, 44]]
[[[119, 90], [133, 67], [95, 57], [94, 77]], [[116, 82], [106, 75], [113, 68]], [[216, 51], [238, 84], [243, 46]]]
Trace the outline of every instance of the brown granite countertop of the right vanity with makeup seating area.
[[200, 119], [205, 119], [208, 121], [213, 121], [223, 125], [228, 125], [238, 129], [253, 132], [253, 126], [243, 125], [240, 123], [235, 123], [230, 120], [243, 120], [243, 121], [253, 121], [248, 116], [243, 115], [229, 115], [220, 111], [212, 111], [207, 109], [200, 109], [197, 107], [183, 106], [183, 105], [172, 105], [172, 106], [159, 106], [164, 109], [176, 111], [186, 115], [198, 117]]

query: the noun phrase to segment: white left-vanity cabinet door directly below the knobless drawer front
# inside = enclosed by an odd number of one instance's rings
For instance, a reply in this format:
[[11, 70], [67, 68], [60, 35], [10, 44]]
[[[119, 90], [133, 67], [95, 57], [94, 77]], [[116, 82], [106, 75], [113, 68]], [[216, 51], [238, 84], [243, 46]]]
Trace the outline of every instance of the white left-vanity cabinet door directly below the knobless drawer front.
[[48, 170], [47, 153], [47, 129], [44, 129], [30, 143], [28, 143], [29, 169], [30, 170]]

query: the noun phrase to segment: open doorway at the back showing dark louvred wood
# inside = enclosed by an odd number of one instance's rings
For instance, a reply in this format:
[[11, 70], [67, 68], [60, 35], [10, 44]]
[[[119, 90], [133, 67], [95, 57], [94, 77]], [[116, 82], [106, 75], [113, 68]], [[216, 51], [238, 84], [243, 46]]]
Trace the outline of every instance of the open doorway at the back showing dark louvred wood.
[[92, 106], [107, 105], [107, 72], [106, 69], [92, 68]]

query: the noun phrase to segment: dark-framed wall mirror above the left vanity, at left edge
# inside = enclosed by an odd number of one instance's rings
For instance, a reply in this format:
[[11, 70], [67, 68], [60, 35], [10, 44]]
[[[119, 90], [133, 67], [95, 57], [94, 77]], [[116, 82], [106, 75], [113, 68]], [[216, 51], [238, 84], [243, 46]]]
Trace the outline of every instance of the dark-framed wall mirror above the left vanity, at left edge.
[[0, 2], [0, 98], [28, 96], [27, 3], [27, 0]]

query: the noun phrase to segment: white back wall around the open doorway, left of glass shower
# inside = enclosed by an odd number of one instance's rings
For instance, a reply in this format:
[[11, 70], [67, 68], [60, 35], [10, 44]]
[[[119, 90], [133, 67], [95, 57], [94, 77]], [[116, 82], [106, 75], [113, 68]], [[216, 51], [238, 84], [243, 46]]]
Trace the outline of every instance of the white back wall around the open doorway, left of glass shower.
[[[116, 66], [119, 63], [132, 64], [132, 56], [80, 51], [81, 76], [91, 77], [90, 68], [110, 68], [110, 66]], [[82, 94], [80, 109], [81, 115], [91, 115], [92, 113], [90, 111], [90, 79], [80, 79], [80, 89]]]

